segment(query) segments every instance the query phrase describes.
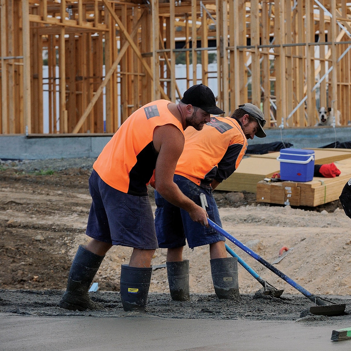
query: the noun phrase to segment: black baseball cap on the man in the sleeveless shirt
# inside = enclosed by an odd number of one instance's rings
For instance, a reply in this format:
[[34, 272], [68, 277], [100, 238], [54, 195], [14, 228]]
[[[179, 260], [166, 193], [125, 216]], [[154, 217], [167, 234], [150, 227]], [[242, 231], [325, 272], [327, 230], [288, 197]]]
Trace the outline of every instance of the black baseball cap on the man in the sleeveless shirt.
[[222, 114], [225, 113], [219, 107], [216, 106], [216, 98], [212, 90], [203, 84], [197, 84], [190, 87], [180, 100], [184, 104], [190, 104], [196, 106], [211, 114]]

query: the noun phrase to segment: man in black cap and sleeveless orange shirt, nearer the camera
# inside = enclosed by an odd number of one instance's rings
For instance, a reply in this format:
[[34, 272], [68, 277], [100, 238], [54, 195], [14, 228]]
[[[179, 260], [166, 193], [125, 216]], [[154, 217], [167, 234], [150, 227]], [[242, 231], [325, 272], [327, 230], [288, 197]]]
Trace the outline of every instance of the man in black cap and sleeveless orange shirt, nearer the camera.
[[[199, 84], [179, 104], [157, 100], [135, 111], [106, 144], [89, 178], [92, 197], [86, 234], [92, 240], [79, 246], [59, 306], [93, 310], [88, 289], [112, 245], [133, 247], [129, 265], [121, 267], [121, 300], [126, 311], [144, 310], [151, 280], [150, 266], [158, 248], [147, 184], [154, 173], [155, 188], [182, 208], [191, 220], [208, 226], [206, 211], [173, 183], [184, 147], [184, 130], [203, 129], [210, 114], [222, 114], [210, 88]], [[177, 207], [177, 208], [178, 208]]]

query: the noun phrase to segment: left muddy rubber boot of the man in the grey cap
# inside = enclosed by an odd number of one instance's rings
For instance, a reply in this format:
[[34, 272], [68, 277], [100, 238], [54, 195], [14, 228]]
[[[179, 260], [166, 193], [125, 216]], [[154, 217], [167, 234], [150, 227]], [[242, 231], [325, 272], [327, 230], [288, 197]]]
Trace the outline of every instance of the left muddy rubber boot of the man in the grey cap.
[[172, 300], [190, 301], [189, 260], [166, 262]]

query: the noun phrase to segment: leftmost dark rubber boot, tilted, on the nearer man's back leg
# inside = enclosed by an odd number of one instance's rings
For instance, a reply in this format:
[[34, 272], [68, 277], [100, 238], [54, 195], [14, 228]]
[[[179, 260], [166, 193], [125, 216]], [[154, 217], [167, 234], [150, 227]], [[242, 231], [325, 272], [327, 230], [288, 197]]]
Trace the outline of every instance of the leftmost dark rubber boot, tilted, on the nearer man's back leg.
[[103, 306], [93, 302], [88, 294], [93, 278], [105, 256], [99, 256], [79, 245], [69, 270], [67, 289], [59, 306], [66, 310], [101, 310]]

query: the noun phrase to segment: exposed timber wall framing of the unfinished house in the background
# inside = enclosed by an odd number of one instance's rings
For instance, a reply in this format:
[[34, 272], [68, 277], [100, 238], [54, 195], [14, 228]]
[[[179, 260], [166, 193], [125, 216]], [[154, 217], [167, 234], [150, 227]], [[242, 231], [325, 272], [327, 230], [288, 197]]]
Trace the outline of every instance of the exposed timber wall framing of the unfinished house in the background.
[[252, 102], [268, 128], [312, 127], [320, 106], [351, 121], [346, 1], [0, 0], [0, 33], [0, 134], [114, 133], [180, 99], [179, 78], [217, 79], [227, 115]]

